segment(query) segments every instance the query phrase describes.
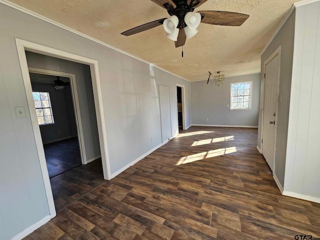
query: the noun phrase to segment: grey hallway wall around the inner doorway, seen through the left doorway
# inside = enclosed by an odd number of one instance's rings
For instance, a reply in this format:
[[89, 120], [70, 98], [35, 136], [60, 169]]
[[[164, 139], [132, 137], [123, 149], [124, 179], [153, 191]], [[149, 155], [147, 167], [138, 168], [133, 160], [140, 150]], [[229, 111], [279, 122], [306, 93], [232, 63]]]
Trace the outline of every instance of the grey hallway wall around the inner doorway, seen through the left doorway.
[[[85, 146], [85, 157], [87, 160], [90, 160], [101, 155], [90, 67], [85, 64], [45, 56], [34, 52], [26, 51], [25, 53], [28, 67], [68, 72], [75, 75]], [[43, 126], [40, 127], [40, 130], [42, 129]]]

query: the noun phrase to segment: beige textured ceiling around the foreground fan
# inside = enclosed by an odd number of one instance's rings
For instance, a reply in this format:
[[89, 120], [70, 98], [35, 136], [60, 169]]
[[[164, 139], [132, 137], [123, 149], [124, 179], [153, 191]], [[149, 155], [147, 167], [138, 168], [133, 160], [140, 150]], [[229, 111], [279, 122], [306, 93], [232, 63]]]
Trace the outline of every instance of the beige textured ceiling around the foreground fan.
[[160, 66], [188, 80], [205, 79], [208, 71], [226, 75], [260, 71], [260, 53], [294, 2], [299, 0], [208, 0], [196, 10], [249, 14], [242, 26], [201, 23], [198, 33], [175, 48], [162, 26], [131, 35], [120, 33], [168, 17], [150, 0], [10, 0], [75, 30]]

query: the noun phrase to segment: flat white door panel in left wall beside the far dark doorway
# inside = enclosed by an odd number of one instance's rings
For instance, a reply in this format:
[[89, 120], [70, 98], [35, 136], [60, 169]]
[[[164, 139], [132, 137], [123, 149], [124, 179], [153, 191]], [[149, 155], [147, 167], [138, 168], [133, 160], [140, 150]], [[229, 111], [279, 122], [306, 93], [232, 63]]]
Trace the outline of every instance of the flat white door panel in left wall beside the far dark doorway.
[[171, 137], [171, 113], [169, 86], [159, 84], [159, 102], [162, 142]]

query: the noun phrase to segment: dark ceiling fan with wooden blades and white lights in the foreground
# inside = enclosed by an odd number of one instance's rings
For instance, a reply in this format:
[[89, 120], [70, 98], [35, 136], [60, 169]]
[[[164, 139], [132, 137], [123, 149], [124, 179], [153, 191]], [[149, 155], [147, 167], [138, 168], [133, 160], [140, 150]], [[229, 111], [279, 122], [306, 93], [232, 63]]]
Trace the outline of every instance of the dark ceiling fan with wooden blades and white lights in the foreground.
[[200, 22], [223, 26], [240, 26], [249, 15], [230, 11], [198, 11], [194, 8], [207, 0], [151, 0], [167, 10], [170, 17], [136, 26], [122, 32], [129, 36], [163, 24], [166, 37], [175, 41], [175, 47], [183, 46], [186, 39], [193, 37], [198, 31]]

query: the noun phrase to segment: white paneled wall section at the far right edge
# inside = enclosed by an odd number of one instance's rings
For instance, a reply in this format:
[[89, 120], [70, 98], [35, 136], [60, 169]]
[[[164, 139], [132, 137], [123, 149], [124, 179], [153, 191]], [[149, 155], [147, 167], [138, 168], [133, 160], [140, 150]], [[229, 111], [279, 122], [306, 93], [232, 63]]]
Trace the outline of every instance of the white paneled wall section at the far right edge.
[[[320, 2], [296, 8], [284, 191], [320, 202]], [[288, 194], [288, 193], [287, 193]], [[290, 194], [290, 193], [289, 193]]]

